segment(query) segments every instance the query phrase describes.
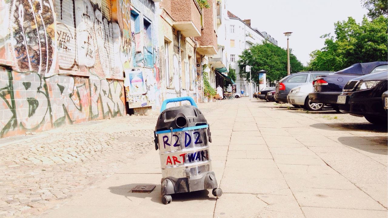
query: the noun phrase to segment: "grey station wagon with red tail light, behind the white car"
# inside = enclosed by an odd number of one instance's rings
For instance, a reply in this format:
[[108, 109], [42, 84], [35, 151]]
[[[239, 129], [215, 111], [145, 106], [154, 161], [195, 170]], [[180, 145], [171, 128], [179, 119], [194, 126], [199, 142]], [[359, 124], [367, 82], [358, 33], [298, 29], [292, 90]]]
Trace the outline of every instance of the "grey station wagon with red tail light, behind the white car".
[[288, 75], [276, 83], [275, 99], [279, 102], [287, 103], [287, 95], [292, 88], [311, 83], [315, 77], [327, 75], [329, 71], [306, 71]]

